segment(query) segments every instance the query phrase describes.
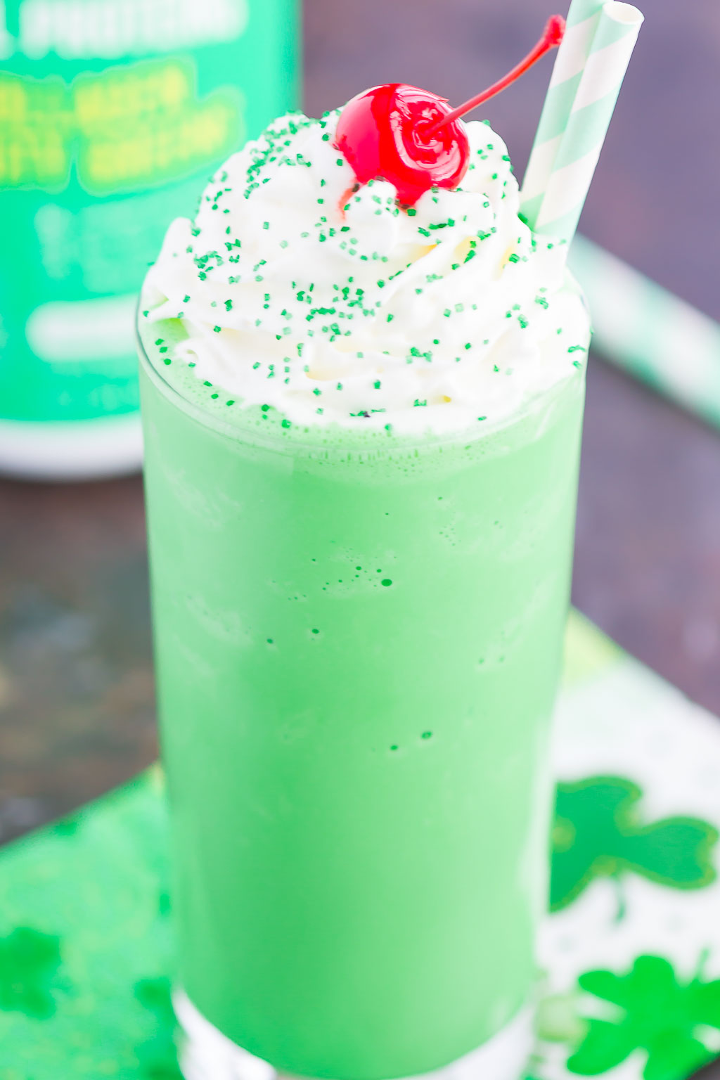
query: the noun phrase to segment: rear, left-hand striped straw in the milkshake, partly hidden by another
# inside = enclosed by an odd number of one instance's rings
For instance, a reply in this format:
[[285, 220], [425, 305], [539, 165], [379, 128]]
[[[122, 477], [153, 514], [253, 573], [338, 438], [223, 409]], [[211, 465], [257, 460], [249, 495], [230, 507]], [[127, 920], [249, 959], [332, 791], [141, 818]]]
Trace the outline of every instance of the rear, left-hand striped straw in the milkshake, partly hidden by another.
[[553, 173], [560, 139], [568, 126], [580, 78], [590, 53], [600, 9], [606, 0], [572, 0], [540, 125], [525, 172], [520, 213], [534, 228], [542, 198]]

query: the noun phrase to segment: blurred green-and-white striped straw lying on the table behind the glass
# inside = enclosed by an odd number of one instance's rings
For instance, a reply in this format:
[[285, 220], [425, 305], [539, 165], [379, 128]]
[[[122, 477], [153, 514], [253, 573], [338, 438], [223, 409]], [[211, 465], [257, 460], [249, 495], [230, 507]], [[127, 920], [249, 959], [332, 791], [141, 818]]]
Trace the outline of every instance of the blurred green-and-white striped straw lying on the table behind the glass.
[[585, 237], [575, 237], [569, 266], [602, 356], [720, 427], [720, 325]]

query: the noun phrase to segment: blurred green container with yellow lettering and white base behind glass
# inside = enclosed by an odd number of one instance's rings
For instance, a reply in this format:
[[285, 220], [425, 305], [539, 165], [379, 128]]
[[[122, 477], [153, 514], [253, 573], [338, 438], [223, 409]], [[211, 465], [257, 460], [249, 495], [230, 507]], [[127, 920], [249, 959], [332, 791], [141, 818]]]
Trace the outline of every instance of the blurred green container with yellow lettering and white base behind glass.
[[297, 44], [297, 0], [0, 0], [0, 471], [139, 467], [142, 274]]

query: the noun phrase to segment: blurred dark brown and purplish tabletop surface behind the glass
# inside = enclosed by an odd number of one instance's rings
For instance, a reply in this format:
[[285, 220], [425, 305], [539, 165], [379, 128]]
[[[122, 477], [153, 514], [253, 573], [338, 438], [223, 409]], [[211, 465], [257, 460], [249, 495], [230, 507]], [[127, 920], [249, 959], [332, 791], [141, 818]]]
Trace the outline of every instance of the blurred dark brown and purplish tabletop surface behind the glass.
[[[309, 0], [304, 109], [388, 81], [462, 102], [517, 62], [548, 14], [545, 0]], [[647, 16], [581, 229], [720, 319], [720, 9], [652, 0]], [[519, 176], [549, 66], [485, 108]], [[573, 599], [716, 713], [719, 538], [720, 432], [596, 353]], [[155, 756], [139, 476], [0, 481], [0, 841]]]

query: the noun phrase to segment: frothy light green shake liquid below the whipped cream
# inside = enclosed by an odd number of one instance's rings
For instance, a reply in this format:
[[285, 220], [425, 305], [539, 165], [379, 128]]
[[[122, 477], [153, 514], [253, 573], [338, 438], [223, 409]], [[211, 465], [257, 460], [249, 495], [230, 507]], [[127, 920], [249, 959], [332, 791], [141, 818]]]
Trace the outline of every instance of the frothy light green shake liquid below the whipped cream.
[[584, 373], [358, 450], [144, 367], [181, 983], [279, 1069], [446, 1065], [532, 996]]

